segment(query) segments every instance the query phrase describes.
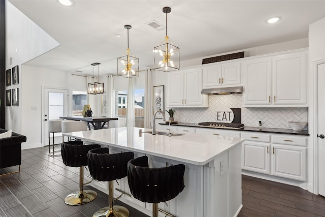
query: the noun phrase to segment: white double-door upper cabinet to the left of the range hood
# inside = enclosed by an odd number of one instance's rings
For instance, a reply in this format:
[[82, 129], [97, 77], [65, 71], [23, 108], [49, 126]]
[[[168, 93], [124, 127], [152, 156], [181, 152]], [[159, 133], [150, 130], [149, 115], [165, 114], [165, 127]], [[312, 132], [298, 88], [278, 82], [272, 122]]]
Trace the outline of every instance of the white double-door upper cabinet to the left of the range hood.
[[167, 107], [208, 107], [208, 96], [201, 94], [202, 69], [168, 73]]

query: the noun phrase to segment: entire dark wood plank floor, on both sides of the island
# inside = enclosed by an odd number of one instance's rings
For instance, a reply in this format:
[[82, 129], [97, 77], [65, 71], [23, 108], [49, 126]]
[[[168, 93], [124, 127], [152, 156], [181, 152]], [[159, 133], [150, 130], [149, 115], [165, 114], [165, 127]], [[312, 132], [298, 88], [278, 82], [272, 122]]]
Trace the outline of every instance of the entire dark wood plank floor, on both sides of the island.
[[[108, 205], [107, 194], [97, 190], [98, 197], [90, 203], [66, 205], [64, 197], [79, 190], [79, 169], [65, 166], [61, 157], [48, 157], [47, 151], [47, 147], [22, 150], [21, 172], [0, 177], [0, 216], [90, 217]], [[2, 169], [1, 174], [17, 168]], [[85, 189], [94, 190], [88, 186]], [[126, 206], [130, 216], [148, 217], [119, 201], [114, 204]], [[242, 204], [239, 217], [325, 216], [324, 197], [245, 175], [242, 176]]]

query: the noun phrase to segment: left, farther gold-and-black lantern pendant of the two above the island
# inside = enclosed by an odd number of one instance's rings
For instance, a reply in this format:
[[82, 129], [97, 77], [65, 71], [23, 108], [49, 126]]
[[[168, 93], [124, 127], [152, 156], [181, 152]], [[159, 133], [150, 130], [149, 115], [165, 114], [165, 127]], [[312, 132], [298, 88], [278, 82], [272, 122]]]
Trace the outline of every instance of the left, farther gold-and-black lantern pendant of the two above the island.
[[127, 49], [122, 57], [117, 58], [117, 76], [126, 78], [139, 76], [139, 59], [135, 57], [128, 48], [128, 30], [132, 28], [131, 25], [124, 25], [127, 29]]

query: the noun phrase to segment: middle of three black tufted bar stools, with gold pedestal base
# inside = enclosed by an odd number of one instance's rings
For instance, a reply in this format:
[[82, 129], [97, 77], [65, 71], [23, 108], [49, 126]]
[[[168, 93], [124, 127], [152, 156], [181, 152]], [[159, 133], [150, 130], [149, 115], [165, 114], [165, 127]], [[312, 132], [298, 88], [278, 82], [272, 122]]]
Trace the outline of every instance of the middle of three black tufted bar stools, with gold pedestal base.
[[93, 179], [99, 181], [109, 181], [109, 206], [96, 211], [93, 214], [93, 217], [129, 216], [129, 211], [125, 207], [113, 206], [113, 202], [116, 200], [114, 199], [113, 183], [115, 179], [126, 177], [127, 162], [133, 158], [133, 152], [110, 154], [108, 148], [93, 149], [88, 152], [88, 167], [90, 175], [93, 177]]

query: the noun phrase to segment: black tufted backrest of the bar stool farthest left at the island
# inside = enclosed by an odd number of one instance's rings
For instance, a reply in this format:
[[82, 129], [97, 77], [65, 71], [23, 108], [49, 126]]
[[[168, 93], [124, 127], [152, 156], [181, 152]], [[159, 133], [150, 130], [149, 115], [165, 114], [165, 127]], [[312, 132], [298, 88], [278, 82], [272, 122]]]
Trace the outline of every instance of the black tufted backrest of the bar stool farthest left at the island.
[[69, 167], [82, 167], [88, 165], [87, 153], [101, 145], [84, 145], [82, 141], [63, 142], [61, 144], [61, 156], [63, 163]]

